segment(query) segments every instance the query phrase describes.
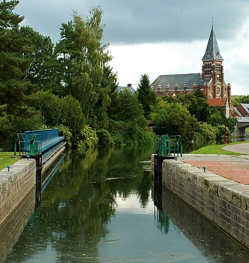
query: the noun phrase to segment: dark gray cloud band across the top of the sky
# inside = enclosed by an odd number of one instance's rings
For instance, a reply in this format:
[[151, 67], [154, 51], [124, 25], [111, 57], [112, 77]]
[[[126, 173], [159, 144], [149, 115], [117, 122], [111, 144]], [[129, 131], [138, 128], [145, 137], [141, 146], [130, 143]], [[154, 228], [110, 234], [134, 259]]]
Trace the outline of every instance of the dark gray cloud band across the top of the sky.
[[15, 11], [56, 42], [73, 9], [86, 17], [97, 5], [104, 12], [104, 42], [111, 44], [207, 40], [212, 17], [217, 38], [231, 39], [249, 16], [246, 0], [20, 0]]

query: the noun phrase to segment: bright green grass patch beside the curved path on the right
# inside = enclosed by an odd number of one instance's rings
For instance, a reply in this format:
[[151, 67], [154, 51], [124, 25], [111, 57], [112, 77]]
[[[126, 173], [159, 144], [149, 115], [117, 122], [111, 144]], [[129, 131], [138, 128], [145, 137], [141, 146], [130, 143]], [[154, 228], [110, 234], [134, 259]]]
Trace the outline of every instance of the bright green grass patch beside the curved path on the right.
[[228, 144], [220, 144], [220, 145], [210, 145], [210, 146], [205, 146], [202, 147], [198, 150], [194, 150], [190, 153], [193, 154], [227, 154], [227, 155], [243, 155], [241, 153], [238, 152], [233, 152], [233, 151], [227, 151], [227, 150], [223, 150], [222, 148], [227, 146], [227, 145], [233, 145], [233, 144], [241, 144], [241, 143], [246, 143], [249, 141], [240, 141], [240, 142], [232, 142], [232, 143], [228, 143]]

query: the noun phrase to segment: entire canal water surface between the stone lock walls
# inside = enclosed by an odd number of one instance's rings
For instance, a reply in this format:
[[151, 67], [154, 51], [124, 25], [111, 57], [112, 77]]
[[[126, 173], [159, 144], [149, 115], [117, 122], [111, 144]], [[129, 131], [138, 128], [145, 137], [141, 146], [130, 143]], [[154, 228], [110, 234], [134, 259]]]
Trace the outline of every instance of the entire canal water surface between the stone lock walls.
[[248, 250], [154, 185], [152, 152], [63, 153], [36, 202], [30, 193], [0, 229], [0, 262], [248, 263]]

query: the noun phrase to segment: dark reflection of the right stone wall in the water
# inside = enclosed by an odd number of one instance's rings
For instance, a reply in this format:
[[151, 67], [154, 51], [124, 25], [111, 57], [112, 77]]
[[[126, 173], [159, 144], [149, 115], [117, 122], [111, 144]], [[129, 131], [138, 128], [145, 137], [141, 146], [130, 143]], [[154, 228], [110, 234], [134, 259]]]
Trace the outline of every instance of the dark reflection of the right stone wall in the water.
[[160, 230], [166, 230], [165, 233], [168, 233], [169, 225], [173, 224], [210, 262], [248, 262], [247, 249], [225, 235], [165, 188], [161, 188], [161, 192], [158, 192], [159, 187], [161, 185], [155, 183], [153, 200], [156, 204]]

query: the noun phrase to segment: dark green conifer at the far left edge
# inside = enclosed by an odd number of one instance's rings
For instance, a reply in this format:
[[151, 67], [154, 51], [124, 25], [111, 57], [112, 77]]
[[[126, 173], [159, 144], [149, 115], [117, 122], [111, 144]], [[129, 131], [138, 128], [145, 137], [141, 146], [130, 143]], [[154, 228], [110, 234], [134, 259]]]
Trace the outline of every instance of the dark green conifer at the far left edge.
[[31, 63], [25, 56], [32, 48], [18, 29], [23, 17], [12, 12], [18, 2], [0, 2], [0, 105], [6, 104], [13, 115], [25, 112], [26, 96], [33, 88], [24, 79]]

